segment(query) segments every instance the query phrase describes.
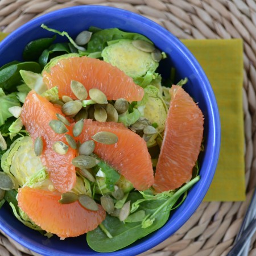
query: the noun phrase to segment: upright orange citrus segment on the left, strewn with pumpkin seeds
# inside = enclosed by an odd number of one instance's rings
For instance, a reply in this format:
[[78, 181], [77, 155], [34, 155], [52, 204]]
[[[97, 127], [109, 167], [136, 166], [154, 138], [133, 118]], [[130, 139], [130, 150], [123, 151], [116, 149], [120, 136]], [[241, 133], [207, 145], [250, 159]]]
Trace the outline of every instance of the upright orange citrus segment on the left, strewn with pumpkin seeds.
[[[65, 155], [57, 154], [53, 150], [52, 145], [56, 141], [67, 144], [65, 135], [55, 133], [49, 126], [49, 121], [57, 119], [56, 113], [62, 114], [61, 110], [53, 106], [46, 98], [31, 91], [24, 102], [20, 117], [33, 141], [37, 137], [42, 137], [44, 147], [40, 158], [47, 167], [55, 188], [64, 193], [70, 191], [76, 183], [75, 166], [71, 163], [75, 158], [75, 150], [69, 147]], [[67, 128], [68, 134], [71, 135], [71, 128], [68, 126]]]

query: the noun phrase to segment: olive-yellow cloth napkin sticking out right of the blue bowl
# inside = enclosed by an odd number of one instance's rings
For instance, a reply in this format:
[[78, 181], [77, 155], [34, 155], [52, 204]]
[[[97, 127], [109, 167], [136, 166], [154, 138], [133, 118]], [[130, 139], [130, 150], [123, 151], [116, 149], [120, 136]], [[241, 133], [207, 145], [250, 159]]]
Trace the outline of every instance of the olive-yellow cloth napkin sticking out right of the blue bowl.
[[221, 148], [205, 201], [245, 200], [243, 46], [241, 39], [182, 40], [203, 67], [217, 99]]

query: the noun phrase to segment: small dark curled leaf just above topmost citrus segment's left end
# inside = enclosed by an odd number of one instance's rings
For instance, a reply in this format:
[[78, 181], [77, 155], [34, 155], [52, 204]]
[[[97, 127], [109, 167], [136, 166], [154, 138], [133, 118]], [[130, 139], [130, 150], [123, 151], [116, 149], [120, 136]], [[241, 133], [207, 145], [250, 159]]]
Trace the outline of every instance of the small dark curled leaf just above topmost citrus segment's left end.
[[52, 44], [48, 49], [45, 49], [42, 53], [42, 55], [40, 55], [39, 57], [39, 64], [42, 65], [42, 67], [44, 67], [49, 59], [50, 59], [50, 55], [52, 55], [52, 53], [57, 53], [55, 56], [52, 57], [56, 57], [59, 55], [63, 55], [64, 53], [70, 53], [71, 50], [69, 48], [69, 44], [68, 43], [57, 43], [57, 44]]

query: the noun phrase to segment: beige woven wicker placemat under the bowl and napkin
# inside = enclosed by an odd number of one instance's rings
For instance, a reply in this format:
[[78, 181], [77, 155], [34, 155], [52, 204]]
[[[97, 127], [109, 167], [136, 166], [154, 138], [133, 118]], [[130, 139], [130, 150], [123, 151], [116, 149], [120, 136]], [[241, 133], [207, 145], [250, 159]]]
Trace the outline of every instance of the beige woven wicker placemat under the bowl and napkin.
[[[143, 253], [151, 256], [225, 256], [233, 245], [256, 185], [255, 0], [0, 0], [0, 30], [11, 32], [49, 11], [76, 5], [108, 5], [142, 14], [180, 39], [243, 39], [246, 201], [203, 202], [185, 225]], [[256, 255], [256, 234], [249, 256]], [[1, 256], [38, 255], [4, 235]]]

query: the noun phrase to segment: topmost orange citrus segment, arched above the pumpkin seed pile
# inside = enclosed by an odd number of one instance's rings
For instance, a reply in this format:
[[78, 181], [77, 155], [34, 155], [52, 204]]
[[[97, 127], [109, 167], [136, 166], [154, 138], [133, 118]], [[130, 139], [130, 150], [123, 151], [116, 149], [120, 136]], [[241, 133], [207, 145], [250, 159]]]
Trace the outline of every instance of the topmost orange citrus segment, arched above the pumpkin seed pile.
[[100, 89], [108, 100], [141, 101], [144, 94], [143, 88], [117, 67], [86, 56], [61, 59], [49, 73], [43, 72], [48, 89], [57, 86], [60, 98], [64, 95], [76, 98], [71, 90], [71, 80], [81, 82], [88, 92], [92, 88]]

